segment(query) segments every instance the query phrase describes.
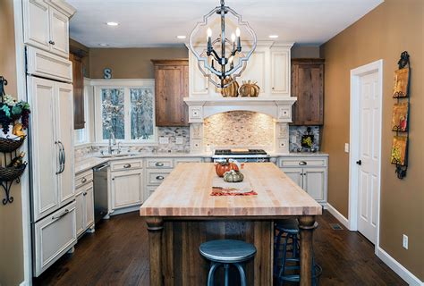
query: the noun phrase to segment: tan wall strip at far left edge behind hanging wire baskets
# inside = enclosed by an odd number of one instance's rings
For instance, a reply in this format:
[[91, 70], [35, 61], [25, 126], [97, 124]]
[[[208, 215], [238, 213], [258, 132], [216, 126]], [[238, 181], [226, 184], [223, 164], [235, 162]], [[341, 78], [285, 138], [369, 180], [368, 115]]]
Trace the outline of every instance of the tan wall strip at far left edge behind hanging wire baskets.
[[[13, 1], [0, 0], [0, 75], [8, 81], [5, 91], [16, 96], [16, 54], [14, 45]], [[21, 185], [13, 185], [12, 204], [0, 203], [0, 285], [19, 285], [23, 281], [23, 238]], [[4, 189], [0, 187], [0, 199]]]

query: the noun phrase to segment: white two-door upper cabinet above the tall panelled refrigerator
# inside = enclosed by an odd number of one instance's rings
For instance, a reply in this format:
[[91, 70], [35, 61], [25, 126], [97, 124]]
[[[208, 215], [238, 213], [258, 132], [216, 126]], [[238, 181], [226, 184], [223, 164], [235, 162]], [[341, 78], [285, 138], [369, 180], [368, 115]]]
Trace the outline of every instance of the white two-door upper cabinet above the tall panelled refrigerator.
[[75, 10], [62, 0], [24, 0], [24, 41], [55, 55], [68, 57], [69, 18]]

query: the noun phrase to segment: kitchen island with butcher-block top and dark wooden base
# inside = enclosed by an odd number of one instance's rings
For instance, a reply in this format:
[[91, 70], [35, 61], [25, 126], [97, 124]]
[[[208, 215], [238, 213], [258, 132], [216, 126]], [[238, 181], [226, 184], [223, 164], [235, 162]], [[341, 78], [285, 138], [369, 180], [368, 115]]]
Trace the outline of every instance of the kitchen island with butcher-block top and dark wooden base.
[[248, 284], [273, 285], [274, 221], [287, 216], [299, 218], [301, 285], [311, 285], [312, 233], [322, 207], [275, 164], [248, 163], [242, 172], [257, 196], [213, 197], [214, 164], [178, 164], [140, 207], [148, 225], [150, 285], [206, 285], [209, 263], [199, 245], [217, 239], [254, 244]]

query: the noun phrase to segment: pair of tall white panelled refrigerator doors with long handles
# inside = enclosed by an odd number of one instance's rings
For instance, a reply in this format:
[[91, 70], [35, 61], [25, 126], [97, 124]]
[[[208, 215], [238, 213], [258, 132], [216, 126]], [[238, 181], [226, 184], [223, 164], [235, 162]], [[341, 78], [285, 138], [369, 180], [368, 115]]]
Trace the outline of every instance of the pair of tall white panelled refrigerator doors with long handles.
[[28, 77], [35, 221], [74, 198], [72, 85]]

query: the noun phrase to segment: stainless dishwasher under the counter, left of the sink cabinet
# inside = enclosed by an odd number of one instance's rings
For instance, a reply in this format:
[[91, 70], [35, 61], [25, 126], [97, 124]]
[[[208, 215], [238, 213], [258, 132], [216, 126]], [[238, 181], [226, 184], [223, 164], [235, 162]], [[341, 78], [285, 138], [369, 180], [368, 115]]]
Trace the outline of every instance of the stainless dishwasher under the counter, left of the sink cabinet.
[[100, 164], [93, 168], [94, 172], [94, 223], [100, 222], [108, 213], [107, 204], [107, 171], [109, 164]]

